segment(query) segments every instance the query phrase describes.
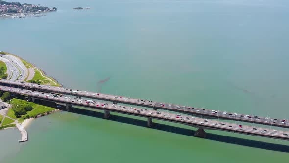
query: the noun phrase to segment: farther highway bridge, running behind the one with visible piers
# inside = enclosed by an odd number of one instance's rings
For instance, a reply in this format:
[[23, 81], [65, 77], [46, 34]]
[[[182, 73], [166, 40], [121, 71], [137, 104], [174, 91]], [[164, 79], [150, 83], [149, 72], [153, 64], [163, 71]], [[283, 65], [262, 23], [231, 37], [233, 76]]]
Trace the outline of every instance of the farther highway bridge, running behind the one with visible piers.
[[74, 90], [70, 88], [64, 87], [53, 87], [53, 86], [46, 86], [46, 85], [38, 85], [33, 83], [25, 83], [19, 81], [9, 81], [9, 80], [0, 80], [0, 85], [6, 85], [10, 87], [17, 87], [29, 90], [37, 90], [41, 92], [49, 92], [49, 93], [59, 93], [59, 94], [66, 94], [72, 95], [76, 97], [85, 97], [97, 100], [104, 100], [104, 101], [111, 101], [114, 104], [122, 103], [122, 104], [129, 104], [141, 107], [148, 107], [153, 108], [154, 110], [163, 109], [163, 110], [170, 110], [180, 113], [186, 113], [191, 115], [197, 115], [200, 117], [212, 117], [218, 119], [228, 119], [234, 121], [242, 121], [242, 122], [249, 122], [249, 123], [257, 123], [257, 124], [264, 124], [269, 126], [278, 126], [289, 128], [288, 120], [280, 119], [280, 118], [269, 118], [269, 117], [259, 117], [256, 115], [247, 115], [247, 114], [237, 114], [233, 112], [226, 112], [226, 111], [219, 111], [219, 110], [210, 110], [210, 109], [202, 109], [190, 106], [180, 106], [175, 104], [168, 104], [168, 103], [160, 103], [155, 102], [152, 100], [144, 100], [144, 99], [136, 99], [124, 96], [115, 96], [115, 95], [108, 95], [102, 93], [95, 93], [95, 92], [87, 92], [87, 91], [80, 91]]

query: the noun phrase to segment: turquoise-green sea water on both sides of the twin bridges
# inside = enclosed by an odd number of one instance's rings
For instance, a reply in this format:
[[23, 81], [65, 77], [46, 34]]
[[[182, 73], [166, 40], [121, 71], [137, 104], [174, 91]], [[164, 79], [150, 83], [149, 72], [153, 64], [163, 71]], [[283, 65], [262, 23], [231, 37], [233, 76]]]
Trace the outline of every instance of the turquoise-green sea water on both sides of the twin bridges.
[[[25, 2], [58, 11], [0, 20], [0, 50], [23, 57], [64, 86], [289, 117], [287, 0]], [[91, 9], [72, 10], [79, 6]], [[0, 161], [265, 163], [289, 158], [279, 152], [283, 146], [273, 145], [289, 145], [286, 141], [220, 131], [200, 139], [190, 136], [194, 128], [182, 125], [176, 126], [186, 130], [173, 132], [162, 125], [147, 129], [145, 121], [100, 117], [59, 112], [39, 118], [24, 144], [14, 142], [19, 137], [14, 129], [0, 131], [0, 143], [9, 146], [0, 150]], [[266, 145], [276, 148], [266, 150]]]

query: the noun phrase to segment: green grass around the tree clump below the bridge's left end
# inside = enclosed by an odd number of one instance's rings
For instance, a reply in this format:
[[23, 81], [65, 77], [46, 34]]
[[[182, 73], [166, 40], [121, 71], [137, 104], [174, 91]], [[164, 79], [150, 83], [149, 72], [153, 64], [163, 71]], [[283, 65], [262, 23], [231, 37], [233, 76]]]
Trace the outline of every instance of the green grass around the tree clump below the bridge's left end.
[[[20, 99], [12, 99], [11, 104], [17, 105], [18, 103], [21, 103], [21, 102], [26, 102], [26, 101], [20, 100]], [[33, 108], [31, 111], [27, 111], [27, 114], [22, 115], [20, 118], [16, 118], [16, 116], [14, 115], [14, 111], [12, 110], [12, 108], [10, 108], [8, 109], [7, 116], [13, 119], [17, 119], [21, 123], [24, 121], [24, 117], [26, 117], [27, 115], [29, 115], [30, 117], [35, 117], [36, 115], [43, 114], [45, 112], [52, 111], [55, 109], [55, 108], [47, 107], [44, 105], [39, 105], [39, 104], [32, 103], [32, 102], [27, 102], [27, 103], [30, 104]]]

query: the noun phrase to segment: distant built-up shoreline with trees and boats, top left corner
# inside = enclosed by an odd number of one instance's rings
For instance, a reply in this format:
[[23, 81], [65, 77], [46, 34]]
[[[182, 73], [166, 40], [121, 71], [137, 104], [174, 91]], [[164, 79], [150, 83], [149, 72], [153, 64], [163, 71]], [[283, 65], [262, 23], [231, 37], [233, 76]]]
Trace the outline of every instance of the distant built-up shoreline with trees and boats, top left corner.
[[6, 2], [0, 0], [0, 17], [24, 18], [28, 16], [46, 16], [42, 13], [56, 11], [57, 8], [49, 8], [34, 4], [21, 4], [19, 2]]

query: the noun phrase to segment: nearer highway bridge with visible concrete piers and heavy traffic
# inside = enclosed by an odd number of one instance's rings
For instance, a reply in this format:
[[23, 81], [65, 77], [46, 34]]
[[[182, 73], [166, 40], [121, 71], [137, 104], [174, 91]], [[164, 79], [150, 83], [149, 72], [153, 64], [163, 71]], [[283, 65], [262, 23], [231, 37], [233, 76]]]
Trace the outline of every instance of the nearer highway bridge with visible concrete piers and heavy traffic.
[[210, 129], [210, 130], [221, 130], [221, 131], [234, 132], [234, 133], [253, 135], [253, 136], [263, 136], [263, 137], [270, 137], [270, 138], [275, 138], [275, 139], [289, 140], [288, 131], [266, 129], [266, 128], [261, 128], [261, 127], [247, 126], [247, 125], [241, 125], [241, 124], [236, 124], [236, 123], [227, 123], [227, 122], [224, 123], [224, 122], [219, 122], [216, 120], [206, 120], [203, 118], [191, 117], [188, 115], [182, 116], [180, 114], [160, 112], [160, 111], [152, 110], [152, 109], [133, 108], [133, 107], [127, 107], [127, 106], [120, 106], [117, 104], [107, 104], [107, 103], [100, 103], [96, 101], [94, 102], [94, 101], [89, 101], [89, 100], [84, 100], [84, 99], [75, 100], [75, 98], [65, 97], [65, 96], [55, 97], [51, 95], [50, 93], [46, 94], [40, 91], [30, 91], [28, 89], [15, 88], [15, 87], [12, 88], [10, 86], [1, 85], [0, 90], [8, 91], [14, 94], [26, 95], [34, 102], [35, 102], [35, 99], [38, 99], [38, 100], [62, 103], [66, 105], [67, 110], [69, 110], [72, 107], [72, 105], [104, 110], [104, 118], [110, 117], [110, 111], [145, 117], [147, 118], [148, 127], [152, 126], [152, 119], [158, 119], [158, 120], [164, 120], [164, 121], [189, 125], [189, 126], [199, 128], [195, 133], [195, 136], [198, 136], [198, 137], [206, 137], [206, 133], [204, 129]]

